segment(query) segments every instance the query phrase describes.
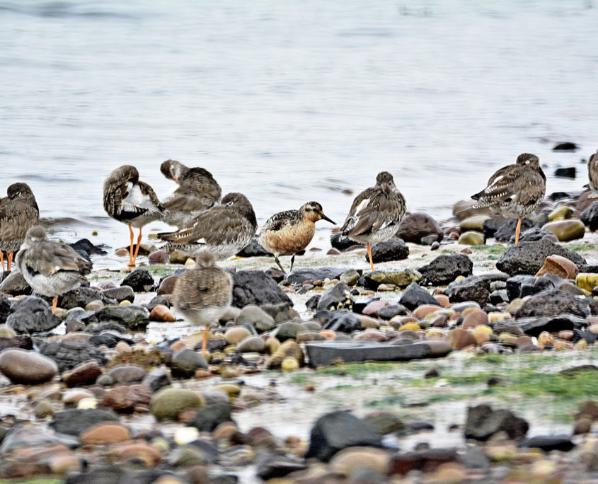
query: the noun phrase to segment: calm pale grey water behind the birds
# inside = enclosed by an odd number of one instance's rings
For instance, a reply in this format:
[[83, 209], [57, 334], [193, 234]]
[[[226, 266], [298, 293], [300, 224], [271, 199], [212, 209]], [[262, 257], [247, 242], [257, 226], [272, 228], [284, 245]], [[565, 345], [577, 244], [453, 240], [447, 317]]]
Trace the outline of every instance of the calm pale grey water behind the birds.
[[523, 151], [579, 190], [596, 25], [591, 0], [0, 2], [0, 191], [24, 180], [56, 236], [118, 247], [102, 183], [125, 163], [160, 196], [163, 160], [203, 166], [260, 222], [308, 200], [342, 222], [381, 170], [447, 219]]

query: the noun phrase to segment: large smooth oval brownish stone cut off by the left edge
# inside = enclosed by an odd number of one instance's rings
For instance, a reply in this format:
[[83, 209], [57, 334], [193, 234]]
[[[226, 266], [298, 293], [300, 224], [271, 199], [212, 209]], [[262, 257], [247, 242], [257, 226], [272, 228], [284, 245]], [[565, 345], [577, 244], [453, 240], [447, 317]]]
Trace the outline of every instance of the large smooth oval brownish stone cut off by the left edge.
[[35, 385], [50, 381], [58, 367], [38, 352], [14, 348], [0, 353], [0, 371], [13, 384]]

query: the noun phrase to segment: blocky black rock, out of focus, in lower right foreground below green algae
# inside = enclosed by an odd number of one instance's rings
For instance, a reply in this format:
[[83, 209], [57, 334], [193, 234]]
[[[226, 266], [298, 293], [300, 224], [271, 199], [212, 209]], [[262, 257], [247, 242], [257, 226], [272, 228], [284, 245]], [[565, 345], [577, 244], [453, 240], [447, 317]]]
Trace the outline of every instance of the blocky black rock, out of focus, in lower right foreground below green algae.
[[496, 432], [506, 432], [510, 439], [523, 437], [529, 424], [509, 410], [493, 410], [489, 405], [469, 407], [465, 424], [465, 438], [487, 440]]

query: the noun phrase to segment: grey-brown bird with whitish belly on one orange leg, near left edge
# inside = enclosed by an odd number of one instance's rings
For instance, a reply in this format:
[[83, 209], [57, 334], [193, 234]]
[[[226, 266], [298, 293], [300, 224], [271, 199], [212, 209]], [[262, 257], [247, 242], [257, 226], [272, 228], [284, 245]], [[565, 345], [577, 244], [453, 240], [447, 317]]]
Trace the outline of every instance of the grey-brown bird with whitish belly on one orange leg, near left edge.
[[58, 296], [85, 282], [91, 272], [91, 262], [64, 243], [48, 241], [43, 227], [31, 227], [16, 256], [16, 265], [25, 281], [38, 294], [50, 296], [52, 314]]

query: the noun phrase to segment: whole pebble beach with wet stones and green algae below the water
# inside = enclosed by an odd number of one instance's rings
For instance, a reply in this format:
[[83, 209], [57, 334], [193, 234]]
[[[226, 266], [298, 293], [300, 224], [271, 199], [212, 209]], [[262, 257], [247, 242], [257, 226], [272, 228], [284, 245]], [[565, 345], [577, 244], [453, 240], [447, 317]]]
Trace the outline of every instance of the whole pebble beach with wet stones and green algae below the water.
[[[266, 255], [219, 263], [234, 302], [205, 358], [202, 328], [170, 308], [193, 267], [177, 253], [144, 246], [136, 269], [94, 270], [54, 316], [6, 272], [0, 477], [594, 482], [592, 202], [548, 196], [517, 246], [514, 219], [471, 202], [442, 226], [408, 214], [408, 241], [375, 244], [374, 272], [334, 229], [287, 277]], [[82, 246], [94, 262], [127, 258]]]

